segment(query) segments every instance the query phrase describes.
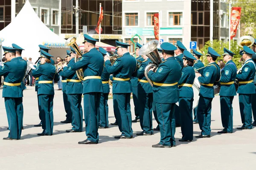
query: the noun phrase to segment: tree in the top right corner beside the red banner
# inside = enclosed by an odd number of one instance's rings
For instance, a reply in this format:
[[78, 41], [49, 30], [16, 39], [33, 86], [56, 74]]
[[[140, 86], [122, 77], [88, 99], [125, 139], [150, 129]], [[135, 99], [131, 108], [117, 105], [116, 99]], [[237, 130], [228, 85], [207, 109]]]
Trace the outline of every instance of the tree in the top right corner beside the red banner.
[[255, 0], [231, 1], [232, 6], [241, 7], [241, 30], [244, 35], [256, 37], [256, 2]]

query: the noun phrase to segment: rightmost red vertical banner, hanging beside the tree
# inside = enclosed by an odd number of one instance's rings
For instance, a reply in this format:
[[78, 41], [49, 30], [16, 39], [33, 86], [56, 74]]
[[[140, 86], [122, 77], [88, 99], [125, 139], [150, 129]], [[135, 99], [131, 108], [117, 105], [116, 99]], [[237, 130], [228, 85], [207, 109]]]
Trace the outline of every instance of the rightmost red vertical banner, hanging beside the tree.
[[232, 7], [230, 20], [230, 40], [236, 36], [237, 27], [241, 17], [241, 7]]

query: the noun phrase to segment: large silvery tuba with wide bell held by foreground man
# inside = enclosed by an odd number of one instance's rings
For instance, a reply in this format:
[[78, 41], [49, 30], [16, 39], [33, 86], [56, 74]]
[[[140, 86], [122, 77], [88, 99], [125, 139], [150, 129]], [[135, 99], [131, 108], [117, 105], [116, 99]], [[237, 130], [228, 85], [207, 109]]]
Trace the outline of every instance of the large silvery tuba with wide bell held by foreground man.
[[[149, 41], [145, 45], [143, 45], [139, 51], [140, 56], [146, 55], [153, 62], [153, 63], [149, 63], [146, 66], [145, 71], [144, 71], [145, 77], [151, 86], [153, 86], [153, 84], [152, 84], [151, 80], [148, 78], [148, 70], [153, 67], [157, 68], [158, 65], [160, 65], [162, 62], [162, 59], [157, 51], [158, 44], [159, 44], [158, 40]], [[156, 68], [155, 68], [155, 70], [156, 70]]]

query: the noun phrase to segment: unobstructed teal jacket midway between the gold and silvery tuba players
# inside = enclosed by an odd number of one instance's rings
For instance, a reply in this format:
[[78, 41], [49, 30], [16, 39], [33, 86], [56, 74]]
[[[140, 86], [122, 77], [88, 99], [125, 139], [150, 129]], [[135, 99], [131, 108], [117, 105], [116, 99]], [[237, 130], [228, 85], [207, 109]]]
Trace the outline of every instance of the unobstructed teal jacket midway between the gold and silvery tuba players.
[[[129, 79], [132, 76], [137, 77], [137, 62], [136, 59], [128, 52], [122, 57], [116, 59], [116, 62], [111, 66], [111, 62], [107, 60], [105, 66], [109, 74], [113, 74], [115, 78]], [[131, 93], [131, 81], [117, 81], [113, 80], [113, 94]]]

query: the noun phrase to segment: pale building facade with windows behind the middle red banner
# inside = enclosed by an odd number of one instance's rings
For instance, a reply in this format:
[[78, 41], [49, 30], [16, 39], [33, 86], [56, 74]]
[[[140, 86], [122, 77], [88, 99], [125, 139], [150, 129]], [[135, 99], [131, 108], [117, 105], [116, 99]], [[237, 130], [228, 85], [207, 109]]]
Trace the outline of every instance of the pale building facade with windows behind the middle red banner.
[[[123, 0], [122, 40], [131, 44], [130, 52], [134, 52], [134, 42], [140, 44], [154, 40], [154, 14], [160, 13], [160, 39], [176, 45], [180, 40], [188, 47], [191, 36], [190, 14], [191, 4], [184, 0]], [[140, 40], [141, 39], [141, 40]]]

